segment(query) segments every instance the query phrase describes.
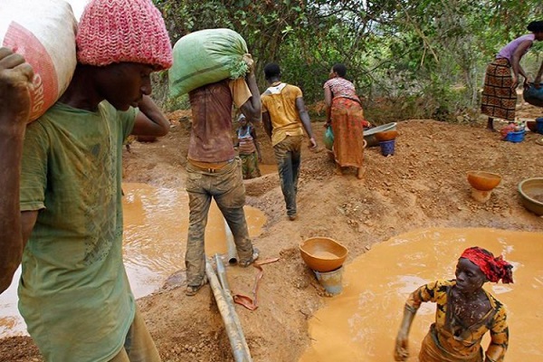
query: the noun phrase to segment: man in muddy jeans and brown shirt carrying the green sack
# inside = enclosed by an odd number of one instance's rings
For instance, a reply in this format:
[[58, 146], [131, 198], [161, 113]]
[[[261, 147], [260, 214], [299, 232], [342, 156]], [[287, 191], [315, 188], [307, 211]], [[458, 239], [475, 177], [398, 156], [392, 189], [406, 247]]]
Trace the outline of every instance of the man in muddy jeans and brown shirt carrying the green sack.
[[[175, 62], [177, 55], [174, 53]], [[242, 161], [236, 157], [231, 138], [233, 104], [249, 122], [260, 120], [261, 99], [252, 58], [245, 54], [243, 61], [249, 69], [244, 77], [226, 77], [188, 93], [193, 123], [186, 163], [190, 210], [185, 255], [187, 296], [195, 295], [207, 282], [204, 236], [212, 197], [232, 230], [239, 265], [247, 267], [258, 258], [243, 212]]]

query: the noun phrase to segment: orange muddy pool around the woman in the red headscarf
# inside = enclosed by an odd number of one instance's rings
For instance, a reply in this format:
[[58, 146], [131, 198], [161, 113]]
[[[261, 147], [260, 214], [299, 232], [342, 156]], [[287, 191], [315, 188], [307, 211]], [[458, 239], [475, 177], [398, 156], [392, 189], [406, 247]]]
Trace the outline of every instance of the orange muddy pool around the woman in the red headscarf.
[[[494, 229], [427, 229], [374, 245], [346, 265], [343, 292], [327, 299], [310, 319], [313, 343], [300, 362], [393, 361], [395, 334], [411, 291], [437, 279], [453, 279], [458, 257], [470, 246], [503, 254], [514, 266], [514, 284], [486, 283], [506, 305], [509, 362], [543, 360], [543, 233]], [[435, 304], [423, 303], [409, 335], [411, 357], [433, 322]], [[490, 338], [483, 338], [486, 349]]]

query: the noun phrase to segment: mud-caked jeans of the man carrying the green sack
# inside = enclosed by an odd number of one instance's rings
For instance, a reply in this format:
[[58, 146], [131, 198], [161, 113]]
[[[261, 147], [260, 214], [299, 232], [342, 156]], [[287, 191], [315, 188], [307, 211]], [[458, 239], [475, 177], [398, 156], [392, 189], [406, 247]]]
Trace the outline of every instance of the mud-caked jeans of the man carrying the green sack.
[[186, 164], [186, 192], [188, 193], [189, 219], [186, 240], [186, 284], [199, 286], [205, 277], [204, 233], [211, 198], [232, 230], [240, 262], [252, 258], [243, 205], [245, 187], [242, 177], [242, 160], [239, 157], [218, 170]]

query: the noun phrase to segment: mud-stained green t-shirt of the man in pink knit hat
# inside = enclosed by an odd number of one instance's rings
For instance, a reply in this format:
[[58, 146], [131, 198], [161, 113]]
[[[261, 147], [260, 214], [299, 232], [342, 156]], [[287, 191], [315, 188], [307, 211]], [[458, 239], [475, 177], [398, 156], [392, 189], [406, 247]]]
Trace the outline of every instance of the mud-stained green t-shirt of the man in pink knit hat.
[[109, 361], [134, 318], [120, 186], [136, 111], [56, 103], [26, 129], [21, 210], [39, 213], [24, 248], [19, 310], [47, 361]]

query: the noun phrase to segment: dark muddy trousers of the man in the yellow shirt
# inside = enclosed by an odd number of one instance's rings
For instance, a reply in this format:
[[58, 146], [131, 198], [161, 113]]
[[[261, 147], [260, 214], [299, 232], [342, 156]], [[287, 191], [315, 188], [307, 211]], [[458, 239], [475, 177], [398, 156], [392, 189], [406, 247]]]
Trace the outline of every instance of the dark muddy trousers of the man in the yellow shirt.
[[296, 214], [302, 138], [302, 136], [287, 136], [287, 138], [273, 146], [288, 215]]

